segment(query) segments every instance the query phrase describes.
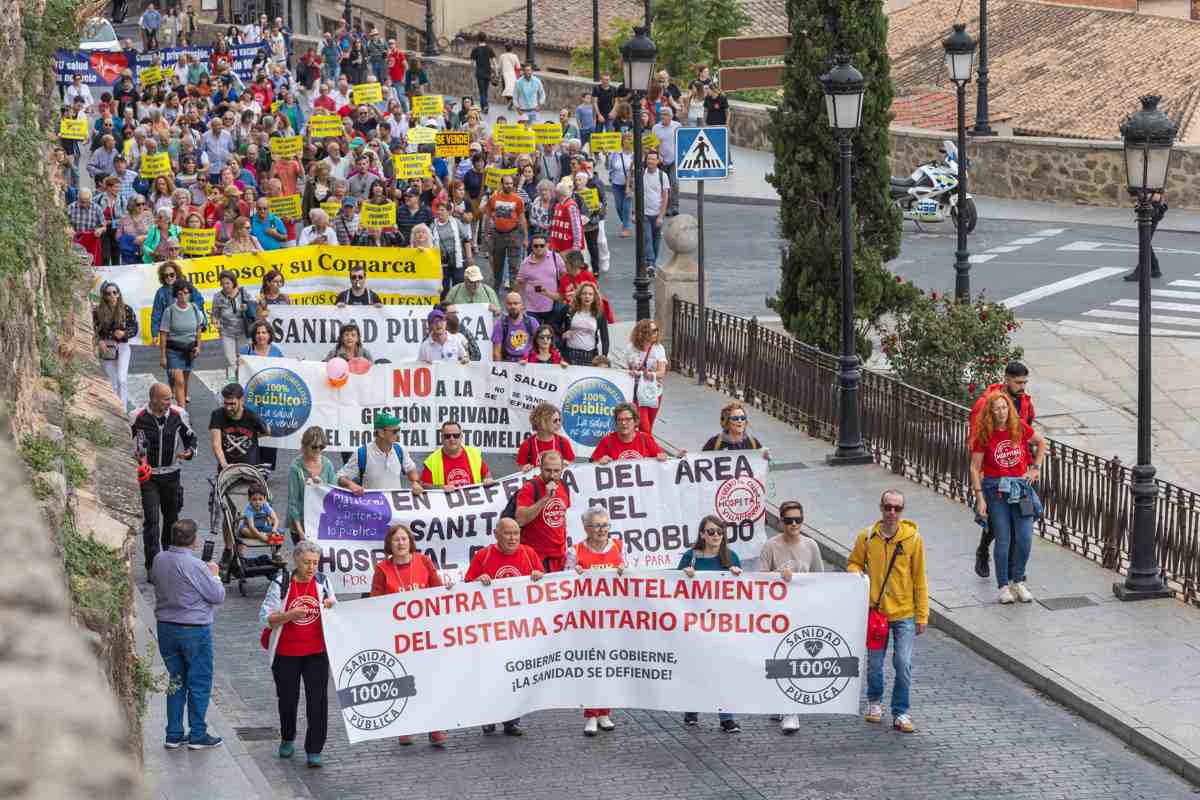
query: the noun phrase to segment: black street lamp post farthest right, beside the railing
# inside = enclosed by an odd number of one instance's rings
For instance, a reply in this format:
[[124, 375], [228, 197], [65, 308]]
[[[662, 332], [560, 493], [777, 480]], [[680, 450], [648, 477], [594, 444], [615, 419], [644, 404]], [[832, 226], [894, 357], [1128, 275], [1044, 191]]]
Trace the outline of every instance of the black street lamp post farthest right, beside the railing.
[[1129, 572], [1112, 584], [1120, 600], [1170, 597], [1154, 558], [1154, 467], [1150, 463], [1150, 237], [1151, 198], [1166, 186], [1176, 127], [1158, 109], [1159, 97], [1141, 97], [1141, 110], [1121, 124], [1126, 182], [1138, 198], [1138, 463], [1133, 468], [1133, 536]]

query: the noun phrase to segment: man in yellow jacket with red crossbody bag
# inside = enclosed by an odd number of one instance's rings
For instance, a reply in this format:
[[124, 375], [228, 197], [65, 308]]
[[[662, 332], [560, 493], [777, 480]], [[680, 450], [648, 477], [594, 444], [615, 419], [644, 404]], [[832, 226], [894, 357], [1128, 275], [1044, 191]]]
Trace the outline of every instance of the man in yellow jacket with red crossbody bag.
[[[902, 733], [916, 728], [908, 716], [908, 688], [912, 684], [913, 639], [929, 624], [929, 585], [925, 581], [925, 545], [917, 523], [901, 519], [904, 494], [888, 489], [880, 498], [882, 518], [854, 540], [846, 569], [871, 579], [870, 603], [888, 618], [892, 642], [892, 727]], [[866, 651], [866, 721], [883, 718], [883, 658], [887, 643]]]

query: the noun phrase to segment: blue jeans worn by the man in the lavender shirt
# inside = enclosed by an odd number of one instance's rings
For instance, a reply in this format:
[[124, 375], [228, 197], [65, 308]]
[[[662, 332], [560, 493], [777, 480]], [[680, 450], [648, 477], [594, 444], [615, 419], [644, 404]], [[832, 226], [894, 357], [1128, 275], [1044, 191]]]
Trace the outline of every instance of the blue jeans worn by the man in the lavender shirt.
[[167, 738], [184, 738], [184, 708], [187, 708], [188, 738], [208, 735], [204, 715], [212, 694], [212, 626], [187, 627], [158, 622], [158, 652], [167, 666], [175, 691], [167, 692]]

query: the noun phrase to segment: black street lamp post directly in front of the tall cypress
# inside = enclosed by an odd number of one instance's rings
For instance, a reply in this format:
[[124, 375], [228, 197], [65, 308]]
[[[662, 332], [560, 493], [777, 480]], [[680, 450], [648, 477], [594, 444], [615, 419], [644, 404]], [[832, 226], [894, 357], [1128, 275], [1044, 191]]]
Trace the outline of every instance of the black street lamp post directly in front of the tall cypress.
[[850, 64], [850, 56], [839, 53], [834, 67], [821, 76], [829, 126], [838, 138], [841, 156], [841, 357], [838, 383], [838, 449], [826, 457], [830, 465], [869, 464], [871, 455], [863, 445], [863, 425], [858, 414], [858, 347], [854, 337], [854, 227], [851, 218], [854, 131], [863, 121], [863, 73]]

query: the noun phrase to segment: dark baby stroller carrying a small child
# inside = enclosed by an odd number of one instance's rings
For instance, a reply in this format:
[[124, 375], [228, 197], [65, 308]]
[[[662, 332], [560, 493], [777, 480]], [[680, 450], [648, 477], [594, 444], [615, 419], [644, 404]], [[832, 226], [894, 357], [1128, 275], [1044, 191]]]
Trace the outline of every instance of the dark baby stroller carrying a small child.
[[[271, 489], [266, 485], [270, 473], [254, 464], [229, 464], [216, 477], [209, 479], [209, 513], [212, 535], [220, 530], [224, 540], [226, 554], [221, 559], [221, 581], [238, 579], [238, 591], [246, 596], [246, 579], [274, 576], [283, 565], [282, 546], [269, 545], [259, 539], [239, 536], [242, 512], [250, 505], [250, 487], [256, 483], [266, 489], [266, 501], [271, 501]], [[254, 551], [258, 551], [256, 554]]]

